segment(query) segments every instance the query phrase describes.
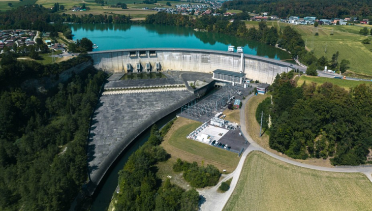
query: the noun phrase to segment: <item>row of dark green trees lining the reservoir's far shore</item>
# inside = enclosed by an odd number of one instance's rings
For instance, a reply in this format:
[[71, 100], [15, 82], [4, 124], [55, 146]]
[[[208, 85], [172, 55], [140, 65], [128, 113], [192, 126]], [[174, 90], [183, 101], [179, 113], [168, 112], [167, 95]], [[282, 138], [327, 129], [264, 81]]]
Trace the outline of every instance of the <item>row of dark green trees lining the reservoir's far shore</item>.
[[275, 27], [269, 28], [265, 22], [260, 22], [258, 29], [247, 29], [242, 20], [249, 18], [248, 14], [243, 12], [234, 16], [234, 22], [229, 22], [228, 17], [217, 16], [201, 16], [193, 19], [191, 16], [175, 15], [164, 12], [148, 15], [145, 23], [148, 24], [164, 24], [171, 26], [192, 27], [199, 30], [208, 30], [218, 33], [226, 33], [234, 36], [245, 37], [269, 45], [278, 44], [279, 47], [291, 52], [292, 57], [299, 56], [300, 60], [305, 64], [311, 64], [316, 61], [313, 53], [305, 49], [305, 41], [301, 38], [296, 30], [290, 26], [278, 31]]

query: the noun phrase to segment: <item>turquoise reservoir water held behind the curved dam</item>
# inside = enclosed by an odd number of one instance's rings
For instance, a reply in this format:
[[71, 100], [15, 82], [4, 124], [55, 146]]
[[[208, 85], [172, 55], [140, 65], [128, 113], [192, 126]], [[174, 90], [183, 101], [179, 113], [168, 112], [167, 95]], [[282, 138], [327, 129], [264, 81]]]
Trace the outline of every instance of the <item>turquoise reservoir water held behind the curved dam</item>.
[[186, 27], [133, 24], [73, 24], [73, 39], [88, 37], [93, 51], [128, 48], [195, 48], [227, 51], [229, 45], [244, 46], [244, 53], [285, 60], [290, 55], [278, 48], [231, 35], [200, 32]]

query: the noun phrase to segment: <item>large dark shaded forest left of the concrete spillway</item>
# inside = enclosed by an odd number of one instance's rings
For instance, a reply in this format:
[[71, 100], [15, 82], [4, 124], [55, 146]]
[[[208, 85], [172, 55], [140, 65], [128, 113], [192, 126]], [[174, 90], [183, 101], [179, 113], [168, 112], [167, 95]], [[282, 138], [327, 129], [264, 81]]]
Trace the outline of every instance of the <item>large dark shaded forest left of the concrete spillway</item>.
[[90, 117], [106, 75], [92, 68], [48, 89], [89, 61], [76, 57], [42, 65], [6, 53], [0, 61], [0, 210], [68, 210], [87, 181]]

